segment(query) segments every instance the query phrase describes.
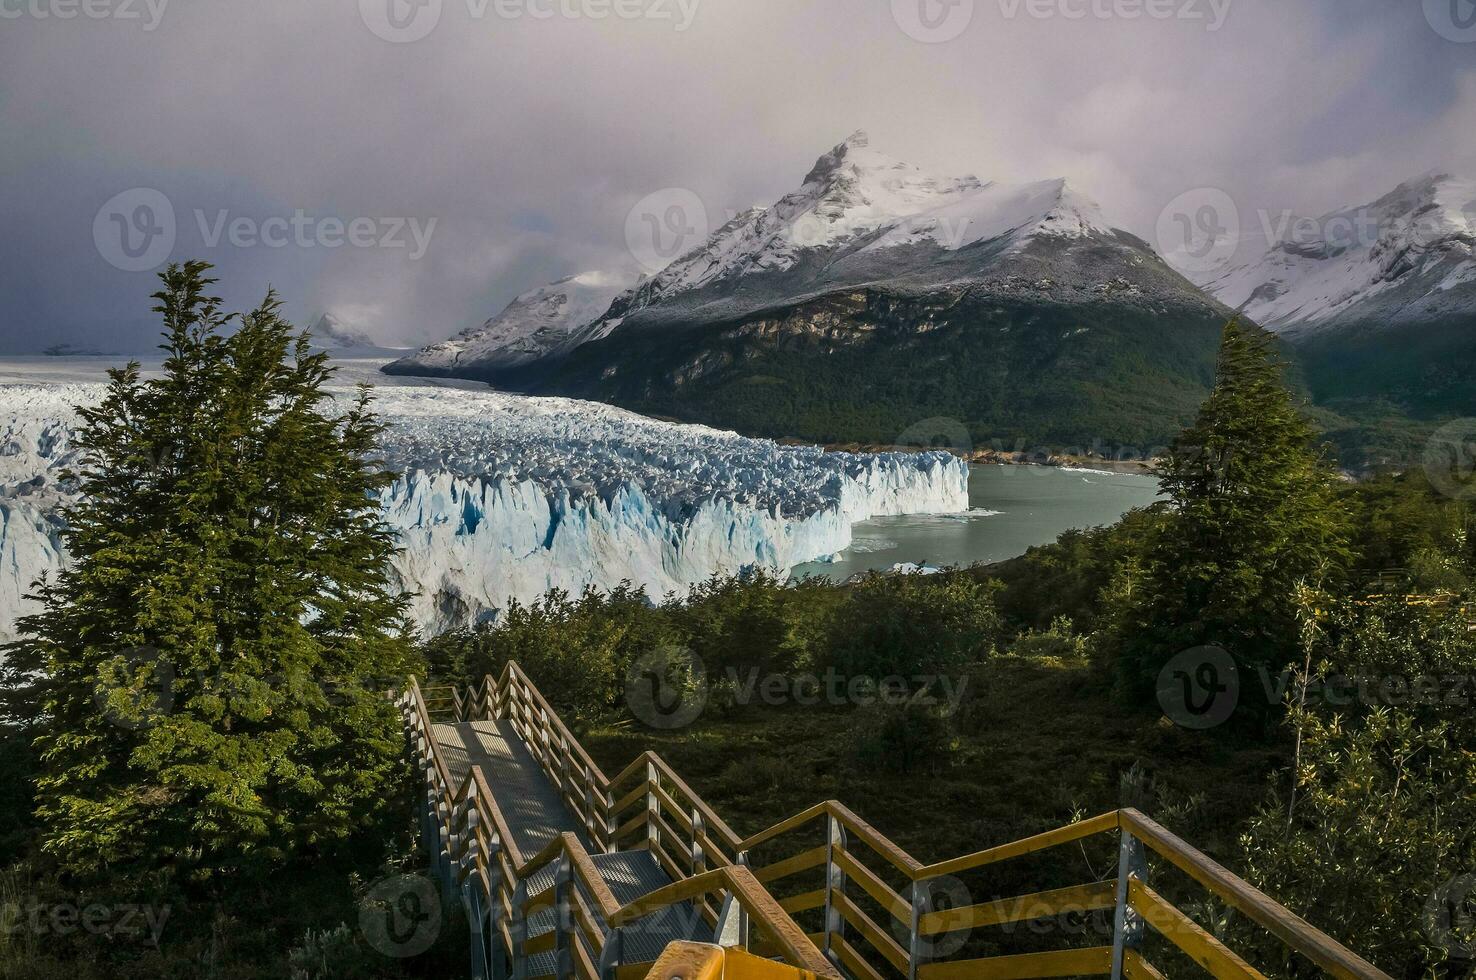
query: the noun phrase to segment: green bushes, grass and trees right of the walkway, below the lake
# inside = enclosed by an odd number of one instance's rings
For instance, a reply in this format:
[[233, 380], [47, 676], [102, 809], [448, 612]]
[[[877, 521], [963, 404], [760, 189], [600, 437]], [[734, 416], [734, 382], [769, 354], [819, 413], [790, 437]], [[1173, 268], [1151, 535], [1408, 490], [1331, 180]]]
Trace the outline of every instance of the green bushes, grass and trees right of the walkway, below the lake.
[[[1469, 701], [1308, 692], [1336, 691], [1343, 674], [1377, 691], [1389, 677], [1476, 676], [1463, 612], [1473, 515], [1418, 471], [1336, 481], [1280, 370], [1265, 335], [1231, 325], [1213, 393], [1165, 466], [1169, 500], [1113, 527], [942, 576], [799, 587], [754, 577], [655, 605], [629, 590], [559, 598], [443, 638], [434, 661], [499, 651], [480, 655], [477, 676], [520, 655], [517, 635], [556, 658], [536, 677], [561, 677], [583, 655], [539, 630], [618, 623], [627, 645], [611, 648], [608, 686], [583, 691], [577, 708], [586, 745], [614, 770], [654, 742], [741, 832], [837, 797], [939, 859], [1141, 806], [1386, 970], [1451, 970], [1470, 925], [1463, 875], [1476, 865]], [[719, 682], [694, 725], [652, 732], [621, 700], [644, 642], [689, 649], [719, 679], [909, 682], [892, 701], [866, 685], [803, 698], [800, 683], [765, 701]], [[1246, 669], [1238, 723], [1191, 731], [1165, 716], [1151, 680], [1204, 643]], [[930, 672], [965, 692], [952, 710], [927, 697], [943, 689]], [[1111, 858], [1079, 855], [1095, 877], [1110, 877]], [[1080, 881], [1067, 860], [1004, 869], [987, 887], [1004, 897]], [[1427, 906], [1445, 909], [1445, 927], [1429, 925]], [[1261, 942], [1224, 908], [1194, 911], [1232, 945]], [[982, 955], [1002, 949], [979, 942]]]

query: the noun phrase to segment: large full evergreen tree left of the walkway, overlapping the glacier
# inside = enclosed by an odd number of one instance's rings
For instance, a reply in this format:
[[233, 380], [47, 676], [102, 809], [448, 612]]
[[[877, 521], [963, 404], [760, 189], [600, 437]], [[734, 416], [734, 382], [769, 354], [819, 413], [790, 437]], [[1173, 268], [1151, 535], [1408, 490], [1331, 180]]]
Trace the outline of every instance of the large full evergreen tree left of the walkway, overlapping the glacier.
[[372, 683], [410, 663], [382, 427], [275, 294], [227, 337], [208, 269], [159, 276], [162, 376], [114, 369], [78, 409], [71, 567], [6, 664], [43, 847], [78, 872], [249, 878], [347, 840], [401, 773]]

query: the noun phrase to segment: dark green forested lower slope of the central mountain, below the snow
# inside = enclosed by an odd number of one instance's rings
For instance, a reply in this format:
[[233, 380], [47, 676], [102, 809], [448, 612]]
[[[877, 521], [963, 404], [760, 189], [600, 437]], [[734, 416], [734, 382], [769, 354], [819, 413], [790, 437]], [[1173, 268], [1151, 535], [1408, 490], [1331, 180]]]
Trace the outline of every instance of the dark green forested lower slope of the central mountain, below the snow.
[[540, 390], [831, 444], [890, 446], [946, 418], [980, 449], [1100, 441], [1147, 455], [1194, 418], [1213, 375], [1209, 308], [863, 297], [596, 341]]

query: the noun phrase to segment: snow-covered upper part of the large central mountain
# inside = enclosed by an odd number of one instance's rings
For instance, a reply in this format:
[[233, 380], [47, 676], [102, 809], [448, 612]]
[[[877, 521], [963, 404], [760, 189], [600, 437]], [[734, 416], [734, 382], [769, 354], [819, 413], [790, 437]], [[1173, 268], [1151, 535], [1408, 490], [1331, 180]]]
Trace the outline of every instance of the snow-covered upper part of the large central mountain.
[[967, 280], [1002, 269], [1035, 244], [1067, 249], [1129, 238], [1064, 179], [1011, 184], [940, 177], [887, 156], [856, 131], [825, 152], [799, 189], [773, 207], [737, 214], [617, 298], [568, 348], [601, 339], [642, 311], [683, 323], [728, 319], [855, 285]]

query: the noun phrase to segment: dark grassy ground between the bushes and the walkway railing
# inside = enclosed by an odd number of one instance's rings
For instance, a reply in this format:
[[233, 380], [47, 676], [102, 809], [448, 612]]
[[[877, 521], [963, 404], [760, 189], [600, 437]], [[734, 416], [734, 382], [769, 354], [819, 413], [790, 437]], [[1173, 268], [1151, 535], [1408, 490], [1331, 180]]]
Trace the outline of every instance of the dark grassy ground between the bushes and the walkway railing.
[[[583, 742], [610, 775], [655, 750], [738, 834], [837, 798], [922, 862], [1137, 804], [1234, 863], [1240, 824], [1286, 762], [1280, 745], [1125, 710], [1083, 660], [977, 666], [955, 748], [927, 770], [862, 760], [861, 720], [850, 707], [750, 705], [708, 710], [679, 731], [602, 726]], [[1125, 798], [1129, 772], [1145, 784]]]

